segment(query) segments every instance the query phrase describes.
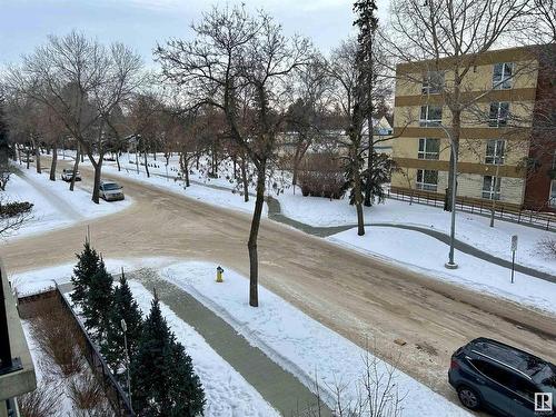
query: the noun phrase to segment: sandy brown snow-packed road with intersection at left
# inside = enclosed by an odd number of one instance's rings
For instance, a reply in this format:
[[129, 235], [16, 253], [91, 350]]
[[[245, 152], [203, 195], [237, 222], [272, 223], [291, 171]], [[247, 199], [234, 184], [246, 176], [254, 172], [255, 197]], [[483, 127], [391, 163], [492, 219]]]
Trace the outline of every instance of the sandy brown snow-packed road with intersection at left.
[[[90, 187], [91, 172], [86, 167], [80, 170], [80, 187]], [[199, 259], [248, 276], [250, 216], [117, 180], [136, 203], [88, 222], [93, 245], [105, 257]], [[85, 231], [85, 224], [77, 224], [3, 244], [0, 254], [9, 272], [73, 261]], [[496, 338], [556, 363], [553, 316], [398, 268], [271, 220], [264, 220], [260, 228], [259, 259], [261, 285], [354, 342], [370, 345], [378, 356], [454, 401], [446, 381], [449, 358], [475, 337]]]

